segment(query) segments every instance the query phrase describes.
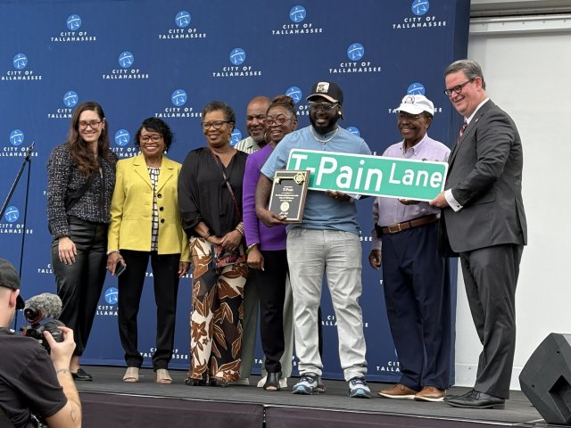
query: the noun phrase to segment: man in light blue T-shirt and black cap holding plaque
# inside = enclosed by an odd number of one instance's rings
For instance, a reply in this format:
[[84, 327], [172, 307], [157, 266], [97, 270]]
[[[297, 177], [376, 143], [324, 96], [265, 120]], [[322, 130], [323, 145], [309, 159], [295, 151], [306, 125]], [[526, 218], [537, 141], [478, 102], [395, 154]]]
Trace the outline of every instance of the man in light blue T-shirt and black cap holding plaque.
[[[334, 82], [317, 82], [308, 96], [311, 125], [277, 144], [261, 169], [256, 213], [266, 226], [285, 224], [267, 209], [272, 179], [285, 169], [294, 148], [321, 152], [370, 154], [365, 141], [337, 125], [343, 118], [343, 91]], [[287, 261], [294, 292], [295, 350], [300, 359], [296, 394], [313, 394], [322, 373], [318, 351], [318, 308], [323, 274], [337, 317], [339, 358], [349, 396], [370, 398], [365, 381], [367, 360], [359, 305], [361, 286], [360, 226], [354, 200], [337, 191], [307, 193], [301, 223], [287, 227]]]

